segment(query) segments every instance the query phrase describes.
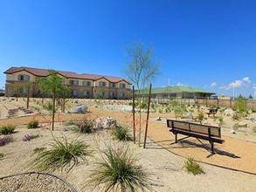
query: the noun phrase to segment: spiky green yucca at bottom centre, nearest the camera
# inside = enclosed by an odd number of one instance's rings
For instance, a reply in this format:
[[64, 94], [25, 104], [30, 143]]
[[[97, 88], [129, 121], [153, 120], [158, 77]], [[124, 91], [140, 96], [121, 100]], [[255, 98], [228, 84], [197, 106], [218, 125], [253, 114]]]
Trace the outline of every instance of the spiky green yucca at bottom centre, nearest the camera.
[[96, 163], [96, 168], [89, 176], [88, 184], [94, 188], [103, 184], [102, 191], [138, 191], [151, 190], [149, 175], [136, 165], [137, 159], [128, 152], [128, 148], [115, 149], [107, 146], [100, 152], [102, 160]]

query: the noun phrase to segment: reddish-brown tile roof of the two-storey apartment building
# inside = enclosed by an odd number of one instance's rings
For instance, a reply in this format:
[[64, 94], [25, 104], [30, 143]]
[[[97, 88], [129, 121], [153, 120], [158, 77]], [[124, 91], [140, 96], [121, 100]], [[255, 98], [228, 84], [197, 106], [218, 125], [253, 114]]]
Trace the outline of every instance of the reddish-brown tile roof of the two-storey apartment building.
[[[49, 75], [48, 70], [45, 69], [38, 69], [38, 68], [31, 68], [31, 67], [10, 67], [10, 69], [6, 70], [5, 74], [12, 74], [15, 72], [30, 72], [31, 74], [38, 76], [38, 77], [46, 77]], [[58, 72], [61, 76], [67, 78], [67, 79], [88, 79], [88, 80], [98, 80], [98, 79], [107, 79], [109, 82], [113, 83], [118, 83], [121, 82], [122, 80], [126, 81], [128, 84], [127, 79], [121, 79], [118, 77], [110, 77], [110, 76], [101, 76], [101, 75], [93, 75], [93, 74], [87, 74], [87, 73], [82, 73], [82, 74], [77, 74], [75, 72], [62, 72], [62, 71], [56, 71]]]

